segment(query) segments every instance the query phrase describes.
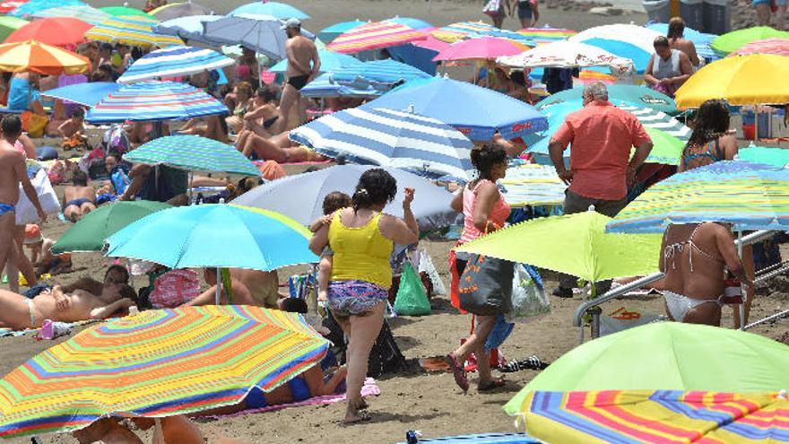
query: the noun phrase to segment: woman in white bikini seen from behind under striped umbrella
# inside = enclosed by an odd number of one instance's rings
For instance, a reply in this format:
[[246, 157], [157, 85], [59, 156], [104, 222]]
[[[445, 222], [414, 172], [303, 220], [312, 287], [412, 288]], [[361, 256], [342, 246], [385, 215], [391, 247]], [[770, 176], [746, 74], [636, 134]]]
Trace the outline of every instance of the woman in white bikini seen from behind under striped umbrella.
[[663, 297], [673, 320], [720, 326], [725, 269], [743, 286], [751, 285], [732, 232], [721, 224], [670, 225], [661, 250]]

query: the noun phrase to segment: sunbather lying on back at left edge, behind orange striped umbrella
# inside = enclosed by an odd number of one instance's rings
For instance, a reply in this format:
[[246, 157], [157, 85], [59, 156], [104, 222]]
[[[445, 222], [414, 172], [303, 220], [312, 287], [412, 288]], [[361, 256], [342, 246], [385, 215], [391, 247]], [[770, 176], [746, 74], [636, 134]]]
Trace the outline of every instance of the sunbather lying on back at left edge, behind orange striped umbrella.
[[106, 319], [118, 310], [133, 306], [134, 296], [132, 287], [115, 283], [105, 285], [99, 296], [82, 290], [65, 293], [57, 285], [33, 299], [0, 290], [0, 326], [24, 330], [38, 328], [44, 319], [59, 322]]

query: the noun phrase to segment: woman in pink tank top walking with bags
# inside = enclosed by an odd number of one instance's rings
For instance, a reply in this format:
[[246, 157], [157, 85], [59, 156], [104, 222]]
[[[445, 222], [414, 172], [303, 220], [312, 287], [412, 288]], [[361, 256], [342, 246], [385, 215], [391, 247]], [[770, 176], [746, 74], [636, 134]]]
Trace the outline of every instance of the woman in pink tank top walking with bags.
[[[510, 213], [510, 207], [496, 185], [496, 181], [507, 174], [507, 152], [498, 144], [483, 144], [472, 150], [471, 157], [478, 178], [469, 182], [463, 192], [455, 195], [452, 200], [452, 209], [463, 212], [464, 216], [463, 234], [458, 245], [477, 239], [484, 233], [499, 230], [504, 226], [504, 222], [507, 222]], [[452, 300], [455, 305], [457, 283], [465, 270], [468, 255], [460, 253], [454, 258], [450, 256], [449, 260], [450, 266], [455, 266], [455, 270], [452, 270]], [[477, 325], [473, 334], [455, 352], [447, 355], [447, 361], [455, 374], [455, 382], [464, 391], [469, 388], [464, 362], [471, 353], [477, 357], [477, 370], [480, 373], [478, 390], [487, 391], [504, 385], [502, 379], [493, 379], [490, 375], [490, 352], [485, 350], [485, 343], [496, 324], [496, 316], [476, 318]]]

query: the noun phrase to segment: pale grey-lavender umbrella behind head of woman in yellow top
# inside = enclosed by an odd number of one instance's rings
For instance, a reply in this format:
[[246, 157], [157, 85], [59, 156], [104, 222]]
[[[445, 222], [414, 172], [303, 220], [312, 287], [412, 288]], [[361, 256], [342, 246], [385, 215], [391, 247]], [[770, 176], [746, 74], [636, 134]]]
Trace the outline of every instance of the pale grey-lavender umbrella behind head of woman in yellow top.
[[[239, 196], [233, 204], [256, 206], [285, 214], [309, 225], [323, 216], [324, 197], [333, 191], [351, 196], [369, 165], [337, 165], [324, 170], [297, 174], [266, 182]], [[412, 187], [417, 198], [412, 204], [413, 215], [421, 231], [447, 227], [456, 222], [458, 214], [449, 208], [452, 195], [429, 180], [396, 168], [384, 168], [397, 180], [397, 195], [386, 205], [384, 213], [403, 217], [403, 189]]]

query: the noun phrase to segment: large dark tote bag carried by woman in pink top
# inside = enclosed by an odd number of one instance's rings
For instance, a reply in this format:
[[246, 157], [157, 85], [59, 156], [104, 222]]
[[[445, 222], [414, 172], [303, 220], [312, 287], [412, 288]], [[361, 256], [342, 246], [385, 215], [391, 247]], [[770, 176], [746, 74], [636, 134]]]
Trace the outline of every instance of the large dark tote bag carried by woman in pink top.
[[457, 287], [460, 309], [480, 316], [509, 312], [514, 269], [507, 260], [470, 255]]

